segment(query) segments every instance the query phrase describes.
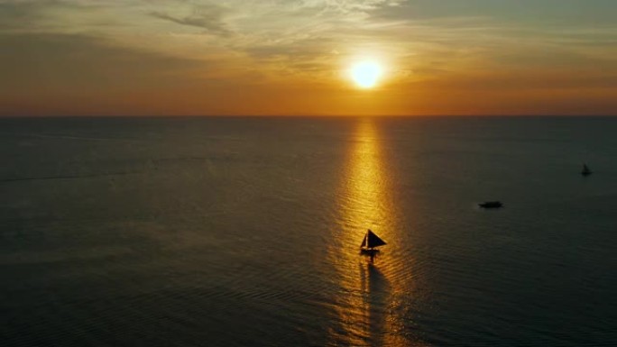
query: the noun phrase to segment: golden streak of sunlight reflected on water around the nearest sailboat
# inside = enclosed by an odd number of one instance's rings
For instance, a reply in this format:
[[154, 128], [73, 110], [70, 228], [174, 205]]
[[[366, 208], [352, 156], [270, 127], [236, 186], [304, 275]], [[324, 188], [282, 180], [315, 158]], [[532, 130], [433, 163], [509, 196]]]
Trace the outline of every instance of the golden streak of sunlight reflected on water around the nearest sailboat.
[[386, 242], [395, 241], [399, 230], [396, 208], [382, 162], [382, 148], [371, 119], [358, 123], [345, 165], [345, 180], [339, 192], [339, 223], [333, 231], [328, 257], [336, 267], [338, 325], [330, 331], [333, 345], [409, 345], [396, 331], [401, 318], [394, 315], [394, 297], [401, 288], [391, 276], [390, 246], [370, 263], [359, 254], [367, 229]]

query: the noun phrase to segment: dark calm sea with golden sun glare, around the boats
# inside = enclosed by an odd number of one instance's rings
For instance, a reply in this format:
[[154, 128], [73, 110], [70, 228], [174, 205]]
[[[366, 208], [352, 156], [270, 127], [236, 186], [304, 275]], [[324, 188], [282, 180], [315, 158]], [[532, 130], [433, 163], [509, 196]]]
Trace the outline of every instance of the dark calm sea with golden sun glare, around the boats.
[[3, 347], [617, 345], [617, 118], [0, 119], [0, 160]]

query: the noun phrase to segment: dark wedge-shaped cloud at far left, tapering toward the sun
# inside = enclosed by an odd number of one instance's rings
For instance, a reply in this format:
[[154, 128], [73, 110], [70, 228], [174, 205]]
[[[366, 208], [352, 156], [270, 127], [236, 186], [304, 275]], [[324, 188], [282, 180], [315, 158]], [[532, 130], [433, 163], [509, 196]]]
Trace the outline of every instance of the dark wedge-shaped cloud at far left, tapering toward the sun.
[[203, 61], [112, 46], [82, 34], [0, 34], [0, 46], [0, 91], [9, 94], [169, 87], [207, 70]]

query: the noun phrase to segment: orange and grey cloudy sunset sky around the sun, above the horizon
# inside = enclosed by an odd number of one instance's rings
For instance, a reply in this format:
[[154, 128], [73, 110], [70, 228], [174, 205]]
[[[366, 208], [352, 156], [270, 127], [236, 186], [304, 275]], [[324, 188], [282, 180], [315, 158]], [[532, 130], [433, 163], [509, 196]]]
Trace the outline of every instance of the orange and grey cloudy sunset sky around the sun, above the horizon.
[[[617, 115], [615, 0], [0, 0], [0, 115]], [[373, 88], [349, 69], [382, 67]]]

